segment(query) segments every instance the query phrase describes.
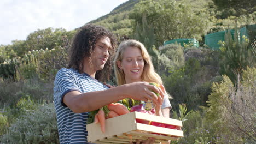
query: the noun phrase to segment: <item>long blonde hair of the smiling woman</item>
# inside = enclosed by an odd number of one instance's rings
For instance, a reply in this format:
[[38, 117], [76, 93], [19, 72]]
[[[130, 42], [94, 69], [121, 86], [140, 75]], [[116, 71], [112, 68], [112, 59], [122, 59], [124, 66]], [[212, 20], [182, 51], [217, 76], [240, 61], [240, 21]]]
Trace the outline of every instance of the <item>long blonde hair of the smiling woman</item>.
[[127, 47], [137, 47], [141, 50], [141, 55], [144, 60], [144, 69], [141, 75], [142, 81], [155, 82], [155, 83], [158, 83], [159, 85], [162, 85], [162, 79], [155, 72], [155, 69], [151, 61], [151, 57], [149, 56], [147, 49], [141, 42], [133, 39], [122, 41], [121, 44], [118, 46], [117, 53], [115, 53], [114, 70], [115, 70], [115, 77], [117, 79], [118, 85], [125, 84], [124, 71], [118, 67], [118, 61], [121, 62], [123, 60], [124, 51]]

